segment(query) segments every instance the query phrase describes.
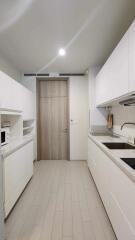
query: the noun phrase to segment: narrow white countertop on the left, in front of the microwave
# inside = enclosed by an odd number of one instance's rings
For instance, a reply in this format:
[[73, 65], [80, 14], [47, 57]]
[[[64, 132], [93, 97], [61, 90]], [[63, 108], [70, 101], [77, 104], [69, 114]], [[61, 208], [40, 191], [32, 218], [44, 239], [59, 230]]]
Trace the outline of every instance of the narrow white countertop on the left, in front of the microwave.
[[33, 140], [33, 136], [24, 136], [22, 138], [16, 138], [12, 140], [7, 145], [4, 145], [1, 147], [1, 155], [3, 158], [9, 156], [13, 152], [17, 151], [19, 148], [23, 147], [28, 142], [31, 142]]

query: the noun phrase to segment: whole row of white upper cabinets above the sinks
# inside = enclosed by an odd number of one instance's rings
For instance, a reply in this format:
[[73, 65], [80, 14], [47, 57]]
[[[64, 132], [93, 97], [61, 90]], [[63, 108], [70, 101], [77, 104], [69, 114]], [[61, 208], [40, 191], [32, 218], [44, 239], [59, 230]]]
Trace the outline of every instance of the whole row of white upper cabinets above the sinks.
[[96, 78], [96, 104], [135, 92], [135, 21]]

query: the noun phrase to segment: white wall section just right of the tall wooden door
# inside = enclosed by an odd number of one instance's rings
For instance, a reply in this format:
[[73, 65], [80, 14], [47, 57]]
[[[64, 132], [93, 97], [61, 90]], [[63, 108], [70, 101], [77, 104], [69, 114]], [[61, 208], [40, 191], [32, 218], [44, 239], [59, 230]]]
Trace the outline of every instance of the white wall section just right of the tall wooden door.
[[69, 94], [70, 159], [87, 160], [88, 78], [71, 77]]

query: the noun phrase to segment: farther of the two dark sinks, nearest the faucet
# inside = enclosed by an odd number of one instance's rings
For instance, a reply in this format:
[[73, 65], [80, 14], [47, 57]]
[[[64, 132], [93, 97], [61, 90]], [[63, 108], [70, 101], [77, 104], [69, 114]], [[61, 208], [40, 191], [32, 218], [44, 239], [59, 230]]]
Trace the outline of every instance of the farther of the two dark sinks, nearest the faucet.
[[109, 149], [135, 149], [135, 146], [124, 142], [106, 142], [103, 144]]

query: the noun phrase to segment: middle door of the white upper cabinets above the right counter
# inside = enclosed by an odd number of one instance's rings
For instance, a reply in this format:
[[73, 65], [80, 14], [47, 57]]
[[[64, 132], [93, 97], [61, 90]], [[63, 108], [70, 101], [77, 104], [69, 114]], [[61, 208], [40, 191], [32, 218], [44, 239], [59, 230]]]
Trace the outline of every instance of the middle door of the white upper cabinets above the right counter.
[[110, 92], [112, 99], [118, 98], [128, 93], [128, 67], [129, 67], [129, 31], [126, 32], [122, 40], [111, 55], [110, 66]]

